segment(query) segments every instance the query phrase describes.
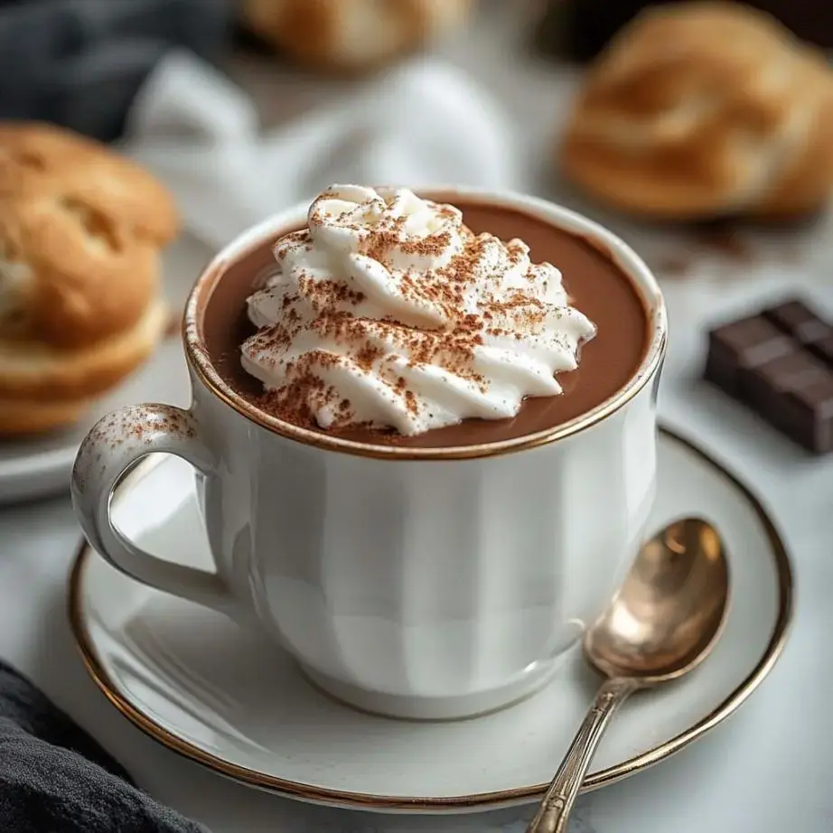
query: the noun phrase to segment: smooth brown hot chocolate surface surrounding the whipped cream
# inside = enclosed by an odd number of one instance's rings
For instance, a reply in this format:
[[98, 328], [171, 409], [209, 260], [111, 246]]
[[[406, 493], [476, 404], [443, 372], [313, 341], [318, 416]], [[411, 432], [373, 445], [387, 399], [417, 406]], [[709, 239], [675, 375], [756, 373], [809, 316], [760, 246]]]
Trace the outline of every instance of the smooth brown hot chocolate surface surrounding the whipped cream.
[[[550, 262], [564, 274], [565, 289], [570, 296], [570, 303], [580, 309], [590, 320], [598, 326], [598, 333], [593, 341], [588, 342], [581, 353], [579, 370], [560, 373], [558, 381], [564, 389], [563, 396], [552, 398], [528, 398], [521, 407], [518, 417], [503, 420], [466, 419], [462, 424], [437, 428], [416, 436], [400, 435], [396, 429], [380, 428], [367, 422], [363, 417], [350, 417], [351, 412], [358, 407], [358, 399], [342, 391], [341, 397], [351, 399], [346, 404], [343, 398], [334, 397], [331, 404], [336, 422], [343, 423], [343, 427], [324, 429], [314, 419], [314, 414], [304, 407], [304, 399], [300, 397], [286, 398], [286, 401], [276, 398], [276, 393], [264, 393], [262, 383], [244, 369], [240, 362], [240, 345], [250, 338], [255, 330], [249, 322], [247, 314], [247, 299], [254, 289], [260, 288], [257, 276], [270, 268], [274, 273], [275, 237], [266, 238], [257, 243], [244, 255], [234, 260], [224, 269], [224, 276], [217, 285], [210, 299], [204, 299], [202, 323], [200, 332], [204, 333], [204, 348], [202, 351], [210, 358], [214, 368], [220, 373], [223, 384], [228, 386], [239, 396], [245, 398], [262, 413], [274, 414], [286, 422], [313, 431], [323, 432], [325, 435], [340, 437], [347, 440], [371, 443], [379, 446], [405, 446], [429, 448], [447, 445], [481, 445], [517, 438], [521, 435], [536, 433], [550, 426], [558, 425], [586, 413], [597, 406], [605, 398], [620, 389], [639, 366], [645, 351], [650, 344], [650, 314], [646, 315], [645, 306], [640, 293], [632, 281], [622, 273], [622, 269], [613, 262], [608, 250], [599, 246], [594, 239], [585, 239], [563, 229], [557, 229], [545, 220], [532, 216], [525, 211], [515, 208], [495, 206], [482, 201], [461, 201], [453, 193], [436, 194], [437, 202], [456, 201], [457, 208], [463, 212], [463, 222], [468, 229], [466, 245], [471, 250], [474, 235], [489, 231], [501, 240], [508, 240], [507, 249], [511, 249], [513, 239], [521, 239], [529, 244], [530, 257], [535, 263]], [[443, 211], [442, 209], [440, 211]], [[449, 218], [454, 218], [454, 211], [448, 212]], [[363, 220], [362, 220], [363, 222]], [[458, 227], [459, 228], [459, 227]], [[297, 226], [281, 229], [285, 233], [295, 233], [300, 239], [300, 245], [309, 245], [307, 230], [295, 230]], [[283, 239], [283, 236], [282, 238]], [[456, 240], [455, 240], [456, 242]], [[278, 240], [280, 244], [280, 240]], [[507, 252], [510, 254], [510, 251]], [[458, 280], [465, 273], [465, 268], [458, 268], [464, 263], [465, 253], [461, 252], [460, 261], [448, 263], [445, 266], [445, 285], [438, 293], [449, 300], [465, 298], [466, 286], [463, 280]], [[278, 259], [281, 259], [278, 257]], [[401, 264], [400, 264], [401, 267]], [[403, 291], [419, 292], [424, 284], [423, 276], [415, 264], [413, 271], [406, 276], [399, 273], [402, 285], [407, 287]], [[530, 289], [536, 283], [536, 276], [528, 274]], [[439, 276], [434, 275], [432, 285], [439, 282]], [[538, 287], [540, 286], [538, 282]], [[276, 298], [276, 310], [280, 323], [285, 330], [290, 324], [296, 326], [297, 315], [295, 304], [297, 299], [292, 297], [296, 286], [288, 287], [285, 303], [283, 295]], [[431, 292], [431, 289], [427, 289]], [[532, 293], [530, 292], [530, 295]], [[506, 300], [505, 295], [502, 296]], [[482, 316], [484, 328], [487, 326], [511, 330], [504, 312], [493, 310], [488, 298], [479, 297], [477, 312]], [[369, 302], [365, 302], [366, 304]], [[460, 304], [462, 307], [463, 304]], [[471, 299], [467, 299], [466, 311], [473, 310]], [[345, 304], [344, 309], [347, 309]], [[352, 308], [354, 313], [360, 308]], [[531, 314], [532, 310], [518, 307], [514, 314]], [[305, 314], [304, 321], [308, 321]], [[385, 324], [386, 322], [380, 322]], [[388, 322], [389, 323], [389, 322]], [[403, 331], [403, 338], [405, 337]], [[427, 332], [427, 331], [426, 331]], [[285, 338], [286, 333], [272, 333], [273, 338]], [[482, 336], [490, 338], [491, 334], [483, 332]], [[526, 338], [526, 333], [513, 332], [515, 339]], [[436, 341], [436, 333], [435, 333]], [[445, 337], [440, 335], [445, 341]], [[464, 340], [463, 340], [464, 341]], [[362, 343], [369, 344], [372, 339], [365, 337]], [[426, 354], [430, 354], [435, 345], [424, 343]], [[358, 348], [351, 352], [356, 358]], [[304, 379], [302, 368], [296, 366], [297, 356], [293, 353], [285, 355], [283, 373], [287, 378], [299, 380], [298, 388], [309, 386], [315, 389], [321, 397], [324, 391], [321, 386], [315, 386], [314, 379]], [[407, 357], [409, 358], [409, 357]], [[464, 355], [458, 357], [464, 360]], [[403, 398], [408, 387], [414, 387], [406, 370], [407, 363], [396, 360], [385, 345], [385, 350], [374, 356], [369, 351], [362, 357], [362, 370], [370, 363], [370, 368], [376, 378], [379, 375], [388, 380], [390, 397]], [[412, 361], [416, 365], [416, 361]], [[419, 370], [415, 368], [415, 370]], [[402, 379], [402, 381], [399, 381]], [[340, 386], [339, 386], [340, 387]], [[394, 391], [399, 388], [399, 393]], [[302, 414], [305, 415], [301, 416]], [[426, 416], [428, 416], [426, 414]]]

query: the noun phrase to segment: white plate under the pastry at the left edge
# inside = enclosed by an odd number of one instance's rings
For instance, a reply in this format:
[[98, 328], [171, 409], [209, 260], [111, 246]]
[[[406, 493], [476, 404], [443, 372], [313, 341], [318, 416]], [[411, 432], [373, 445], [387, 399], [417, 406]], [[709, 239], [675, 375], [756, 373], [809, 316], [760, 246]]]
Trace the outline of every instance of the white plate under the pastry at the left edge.
[[[210, 249], [188, 235], [165, 253], [164, 289], [173, 310], [182, 308], [210, 256]], [[132, 376], [98, 400], [77, 426], [23, 441], [0, 440], [0, 504], [69, 491], [75, 454], [98, 417], [134, 402], [185, 405], [188, 391], [182, 344], [174, 336]]]

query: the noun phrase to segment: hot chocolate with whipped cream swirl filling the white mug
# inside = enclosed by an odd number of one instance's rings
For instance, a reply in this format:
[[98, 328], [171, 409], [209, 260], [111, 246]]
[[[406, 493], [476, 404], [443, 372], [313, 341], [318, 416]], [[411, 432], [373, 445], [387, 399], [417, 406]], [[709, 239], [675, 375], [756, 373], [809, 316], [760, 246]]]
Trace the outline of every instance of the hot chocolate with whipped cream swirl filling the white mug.
[[[333, 270], [343, 268], [343, 235], [357, 228], [352, 219], [343, 220], [349, 212], [342, 211], [342, 202], [332, 214], [342, 223], [314, 228], [318, 239], [302, 231], [284, 238], [276, 254], [276, 239], [265, 240], [226, 267], [208, 299], [203, 331], [211, 359], [231, 388], [267, 412], [329, 435], [375, 445], [442, 447], [500, 442], [560, 425], [632, 379], [648, 348], [649, 317], [632, 282], [606, 252], [523, 211], [456, 199], [463, 227], [459, 215], [442, 205], [423, 216], [424, 206], [434, 203], [413, 199], [417, 205], [407, 222], [427, 223], [431, 233], [420, 233], [431, 242], [393, 240], [398, 260], [385, 260], [389, 272], [375, 270], [372, 257], [357, 261], [350, 255], [346, 267], [359, 274], [348, 285], [332, 279]], [[475, 238], [465, 227], [496, 239]], [[375, 233], [376, 245], [386, 243]], [[439, 251], [438, 240], [453, 251]], [[438, 283], [418, 283], [415, 263], [425, 269], [450, 264], [453, 283], [463, 277], [468, 289], [446, 295], [442, 275]], [[295, 295], [281, 285], [283, 279], [268, 278], [289, 269]], [[463, 270], [469, 274], [462, 276]], [[401, 288], [403, 276], [405, 285], [416, 281], [410, 294]], [[267, 291], [256, 291], [265, 284]], [[303, 308], [293, 301], [299, 286]], [[303, 318], [309, 309], [335, 313], [324, 316], [323, 326], [320, 316]], [[357, 316], [354, 309], [370, 312]], [[454, 337], [440, 338], [439, 332]], [[341, 362], [355, 372], [345, 373], [334, 359], [323, 362], [332, 352], [344, 353]], [[310, 367], [312, 375], [303, 370]], [[391, 367], [402, 369], [392, 377], [402, 388], [397, 397], [387, 396], [388, 385], [369, 385], [379, 369], [389, 381]], [[313, 401], [316, 385], [329, 391], [329, 399], [322, 395], [314, 398], [313, 409], [299, 407]], [[407, 407], [398, 407], [400, 401]], [[515, 416], [500, 418], [505, 414]]]

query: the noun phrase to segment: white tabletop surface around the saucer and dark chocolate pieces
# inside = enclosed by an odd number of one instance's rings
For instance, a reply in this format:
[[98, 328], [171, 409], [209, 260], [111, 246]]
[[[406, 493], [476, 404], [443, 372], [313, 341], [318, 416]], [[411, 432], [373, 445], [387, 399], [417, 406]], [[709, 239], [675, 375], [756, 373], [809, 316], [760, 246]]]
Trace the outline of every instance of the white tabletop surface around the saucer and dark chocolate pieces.
[[[508, 4], [507, 4], [508, 5]], [[495, 13], [498, 14], [498, 13]], [[517, 32], [505, 21], [479, 25], [458, 45], [455, 60], [490, 80], [506, 99], [529, 141], [529, 190], [587, 209], [662, 262], [684, 232], [630, 225], [582, 206], [542, 167], [568, 106], [574, 79], [510, 51]], [[514, 34], [513, 34], [514, 33]], [[509, 44], [509, 45], [508, 45]], [[490, 56], [505, 54], [495, 77]], [[257, 98], [267, 95], [268, 71], [237, 61], [232, 71]], [[309, 83], [309, 82], [305, 82]], [[293, 87], [295, 89], [295, 87]], [[312, 95], [321, 95], [311, 86]], [[518, 90], [522, 94], [518, 94]], [[277, 95], [272, 89], [270, 95]], [[295, 89], [304, 95], [304, 89]], [[300, 107], [300, 105], [299, 105]], [[697, 380], [705, 328], [772, 298], [800, 294], [833, 315], [833, 220], [812, 228], [749, 234], [744, 259], [703, 249], [682, 276], [660, 278], [668, 298], [670, 349], [660, 416], [705, 445], [763, 498], [782, 529], [797, 577], [794, 628], [782, 660], [739, 713], [666, 763], [586, 796], [574, 833], [824, 833], [833, 829], [833, 729], [828, 692], [833, 634], [833, 459], [815, 460]], [[183, 239], [166, 274], [183, 297], [205, 261], [200, 244]], [[181, 367], [172, 367], [181, 373]], [[70, 560], [80, 539], [68, 496], [0, 510], [0, 655], [30, 675], [84, 725], [159, 800], [201, 819], [216, 833], [382, 833], [382, 831], [518, 830], [519, 811], [474, 817], [383, 817], [306, 807], [251, 791], [177, 757], [128, 724], [98, 693], [70, 637], [65, 594]]]

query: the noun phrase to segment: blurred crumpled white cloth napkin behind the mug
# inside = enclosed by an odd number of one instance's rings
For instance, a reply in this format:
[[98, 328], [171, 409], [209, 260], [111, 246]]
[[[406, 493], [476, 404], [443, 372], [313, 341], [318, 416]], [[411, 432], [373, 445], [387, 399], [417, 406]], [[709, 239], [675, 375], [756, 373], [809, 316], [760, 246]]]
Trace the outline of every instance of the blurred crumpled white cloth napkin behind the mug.
[[136, 98], [123, 149], [172, 189], [186, 228], [214, 248], [331, 183], [518, 186], [508, 120], [462, 70], [419, 58], [348, 89], [263, 132], [242, 89], [172, 51]]

